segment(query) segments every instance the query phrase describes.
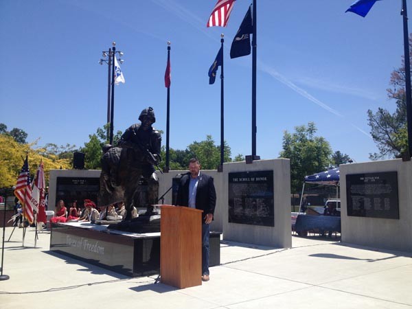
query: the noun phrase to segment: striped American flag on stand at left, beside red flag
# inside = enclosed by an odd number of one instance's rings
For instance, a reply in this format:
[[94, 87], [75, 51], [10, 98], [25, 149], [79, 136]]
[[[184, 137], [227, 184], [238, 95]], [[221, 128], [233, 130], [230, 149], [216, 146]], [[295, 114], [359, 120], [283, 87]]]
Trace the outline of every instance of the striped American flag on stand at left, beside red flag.
[[21, 168], [19, 178], [17, 179], [16, 189], [14, 195], [19, 198], [21, 205], [23, 205], [23, 214], [25, 218], [33, 223], [33, 205], [32, 205], [32, 187], [30, 186], [30, 171], [29, 163], [27, 163], [27, 156]]

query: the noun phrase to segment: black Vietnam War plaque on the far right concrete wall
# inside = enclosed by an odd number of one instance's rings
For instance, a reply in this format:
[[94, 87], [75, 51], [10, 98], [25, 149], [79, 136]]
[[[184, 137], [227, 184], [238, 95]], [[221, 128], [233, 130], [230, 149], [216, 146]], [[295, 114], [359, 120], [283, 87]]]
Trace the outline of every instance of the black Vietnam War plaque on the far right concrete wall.
[[347, 215], [399, 219], [398, 172], [346, 175]]

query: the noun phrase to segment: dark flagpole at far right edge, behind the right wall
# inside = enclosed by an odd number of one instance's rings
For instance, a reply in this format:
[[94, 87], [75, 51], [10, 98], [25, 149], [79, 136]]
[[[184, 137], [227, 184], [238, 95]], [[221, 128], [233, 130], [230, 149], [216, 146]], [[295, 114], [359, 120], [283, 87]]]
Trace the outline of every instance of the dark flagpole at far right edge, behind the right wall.
[[404, 30], [404, 64], [405, 64], [405, 93], [407, 95], [407, 128], [408, 128], [408, 149], [407, 160], [412, 156], [412, 99], [411, 99], [411, 64], [409, 60], [409, 31], [407, 0], [402, 0], [403, 30]]

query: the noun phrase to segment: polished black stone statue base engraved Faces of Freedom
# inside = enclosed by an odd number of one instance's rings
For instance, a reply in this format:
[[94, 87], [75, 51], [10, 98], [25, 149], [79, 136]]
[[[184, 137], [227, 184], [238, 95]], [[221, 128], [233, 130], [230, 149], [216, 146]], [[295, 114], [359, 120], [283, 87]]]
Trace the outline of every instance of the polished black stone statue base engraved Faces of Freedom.
[[[160, 233], [128, 233], [90, 223], [55, 223], [50, 251], [137, 277], [159, 273], [160, 237]], [[209, 249], [209, 266], [219, 265], [220, 233], [210, 233]]]

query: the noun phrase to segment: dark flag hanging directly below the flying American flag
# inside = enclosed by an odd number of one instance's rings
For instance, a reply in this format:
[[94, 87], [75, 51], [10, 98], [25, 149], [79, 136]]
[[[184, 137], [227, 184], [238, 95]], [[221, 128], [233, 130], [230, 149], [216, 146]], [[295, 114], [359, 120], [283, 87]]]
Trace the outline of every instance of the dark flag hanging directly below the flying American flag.
[[233, 38], [230, 48], [230, 58], [233, 59], [251, 54], [251, 33], [253, 33], [252, 6], [249, 6], [239, 30], [235, 38]]

